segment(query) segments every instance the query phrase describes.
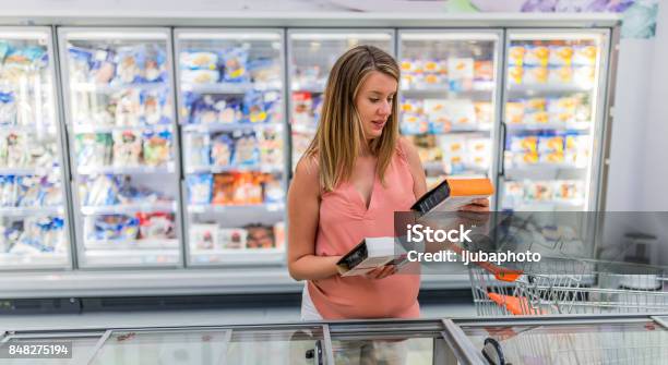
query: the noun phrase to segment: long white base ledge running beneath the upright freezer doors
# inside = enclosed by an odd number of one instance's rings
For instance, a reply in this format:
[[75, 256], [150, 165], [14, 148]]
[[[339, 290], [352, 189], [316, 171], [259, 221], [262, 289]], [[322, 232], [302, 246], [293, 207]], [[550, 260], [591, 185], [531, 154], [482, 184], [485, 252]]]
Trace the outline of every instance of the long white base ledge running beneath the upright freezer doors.
[[[106, 253], [103, 253], [103, 255]], [[160, 253], [165, 256], [165, 252]], [[94, 257], [91, 257], [94, 258]], [[176, 258], [176, 257], [175, 257]], [[118, 259], [115, 257], [115, 259]], [[102, 265], [109, 261], [99, 258]], [[90, 259], [86, 257], [86, 261]], [[468, 275], [422, 275], [422, 289], [470, 288]], [[444, 280], [446, 279], [446, 280]], [[4, 297], [79, 297], [132, 295], [203, 295], [299, 293], [303, 282], [289, 277], [285, 266], [229, 267], [216, 270], [76, 270], [3, 272]]]

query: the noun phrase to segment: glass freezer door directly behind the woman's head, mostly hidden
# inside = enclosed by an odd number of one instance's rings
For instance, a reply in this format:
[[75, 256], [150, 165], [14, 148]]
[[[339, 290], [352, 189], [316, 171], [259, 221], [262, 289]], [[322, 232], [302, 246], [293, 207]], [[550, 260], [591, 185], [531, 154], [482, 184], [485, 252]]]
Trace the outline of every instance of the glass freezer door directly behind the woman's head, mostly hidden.
[[293, 169], [315, 135], [330, 70], [346, 50], [375, 46], [394, 56], [393, 31], [288, 31]]

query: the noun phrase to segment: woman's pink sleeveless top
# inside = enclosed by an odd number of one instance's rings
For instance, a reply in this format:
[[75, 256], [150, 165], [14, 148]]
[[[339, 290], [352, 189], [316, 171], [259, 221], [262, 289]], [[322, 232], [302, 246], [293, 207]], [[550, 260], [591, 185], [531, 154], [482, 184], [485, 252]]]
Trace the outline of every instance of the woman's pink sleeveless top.
[[[385, 172], [384, 186], [377, 174], [368, 209], [351, 183], [322, 194], [315, 255], [344, 255], [365, 238], [394, 236], [394, 211], [410, 210], [415, 200], [413, 175], [399, 147]], [[334, 276], [308, 283], [324, 319], [417, 318], [419, 287], [416, 273], [383, 279]]]

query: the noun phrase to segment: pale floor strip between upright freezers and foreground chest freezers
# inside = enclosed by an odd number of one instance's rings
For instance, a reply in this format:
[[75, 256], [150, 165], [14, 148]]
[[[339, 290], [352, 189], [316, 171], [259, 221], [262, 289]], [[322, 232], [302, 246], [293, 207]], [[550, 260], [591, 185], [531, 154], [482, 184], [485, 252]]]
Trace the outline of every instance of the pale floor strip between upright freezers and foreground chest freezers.
[[[475, 316], [472, 304], [427, 304], [424, 318]], [[299, 307], [250, 309], [104, 312], [0, 316], [0, 332], [67, 328], [181, 327], [299, 321]]]

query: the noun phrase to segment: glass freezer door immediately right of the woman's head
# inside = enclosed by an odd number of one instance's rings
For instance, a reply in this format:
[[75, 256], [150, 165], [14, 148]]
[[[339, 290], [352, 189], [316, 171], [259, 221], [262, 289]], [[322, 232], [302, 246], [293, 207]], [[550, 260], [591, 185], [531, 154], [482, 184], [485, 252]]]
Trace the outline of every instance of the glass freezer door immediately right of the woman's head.
[[500, 32], [401, 31], [401, 122], [428, 187], [491, 177]]

